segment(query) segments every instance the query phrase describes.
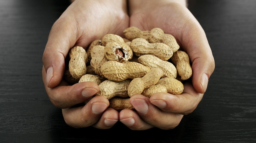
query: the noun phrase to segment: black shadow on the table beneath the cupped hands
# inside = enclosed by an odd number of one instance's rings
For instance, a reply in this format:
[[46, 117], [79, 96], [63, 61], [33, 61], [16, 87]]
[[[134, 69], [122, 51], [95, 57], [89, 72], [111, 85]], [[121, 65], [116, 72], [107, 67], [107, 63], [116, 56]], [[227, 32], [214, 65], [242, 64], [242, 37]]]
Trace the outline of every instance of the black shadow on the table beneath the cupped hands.
[[174, 129], [161, 130], [153, 128], [145, 131], [133, 131], [121, 122], [117, 122], [114, 127], [106, 130], [93, 127], [75, 129], [63, 123], [61, 125], [63, 126], [62, 129], [53, 129], [51, 139], [52, 142], [195, 142], [200, 138], [200, 134], [202, 133], [201, 120], [200, 116], [189, 114], [184, 116], [181, 123]]

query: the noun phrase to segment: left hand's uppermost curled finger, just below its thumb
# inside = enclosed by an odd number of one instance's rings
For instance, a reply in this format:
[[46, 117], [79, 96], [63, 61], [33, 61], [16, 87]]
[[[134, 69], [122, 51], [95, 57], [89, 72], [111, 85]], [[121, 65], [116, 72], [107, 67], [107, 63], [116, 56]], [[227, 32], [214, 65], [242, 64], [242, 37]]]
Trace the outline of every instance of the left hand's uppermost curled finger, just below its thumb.
[[49, 88], [46, 85], [46, 72], [42, 69], [43, 82], [45, 90], [53, 103], [58, 108], [67, 108], [78, 103], [83, 103], [99, 91], [99, 87], [94, 82], [81, 82], [69, 86], [62, 80], [59, 86]]

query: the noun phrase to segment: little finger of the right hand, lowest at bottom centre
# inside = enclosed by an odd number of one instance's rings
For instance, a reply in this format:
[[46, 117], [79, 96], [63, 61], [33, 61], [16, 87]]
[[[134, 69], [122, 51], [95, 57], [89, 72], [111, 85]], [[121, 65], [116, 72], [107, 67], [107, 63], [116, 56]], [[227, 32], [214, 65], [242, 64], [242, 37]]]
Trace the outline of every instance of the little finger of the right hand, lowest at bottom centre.
[[119, 120], [132, 130], [147, 130], [154, 127], [141, 119], [138, 113], [131, 109], [121, 110], [119, 113]]

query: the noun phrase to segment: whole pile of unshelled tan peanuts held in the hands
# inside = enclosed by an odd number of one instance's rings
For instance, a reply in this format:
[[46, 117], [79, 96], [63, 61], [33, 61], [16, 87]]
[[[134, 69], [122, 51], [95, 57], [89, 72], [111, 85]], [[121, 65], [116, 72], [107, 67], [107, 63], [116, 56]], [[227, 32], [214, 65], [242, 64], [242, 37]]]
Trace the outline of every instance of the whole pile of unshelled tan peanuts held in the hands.
[[95, 96], [106, 97], [117, 111], [134, 109], [129, 98], [135, 94], [181, 94], [182, 81], [191, 77], [192, 69], [175, 38], [160, 28], [129, 27], [123, 32], [125, 38], [107, 34], [87, 51], [73, 47], [64, 79], [72, 84], [95, 82], [99, 86]]

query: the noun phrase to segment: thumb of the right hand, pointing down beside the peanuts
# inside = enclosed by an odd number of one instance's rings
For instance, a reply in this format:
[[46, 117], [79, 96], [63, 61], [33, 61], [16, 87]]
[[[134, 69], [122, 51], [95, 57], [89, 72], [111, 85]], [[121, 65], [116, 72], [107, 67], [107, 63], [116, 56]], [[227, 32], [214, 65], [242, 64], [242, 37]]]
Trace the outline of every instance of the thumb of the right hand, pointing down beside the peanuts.
[[214, 57], [201, 25], [190, 12], [186, 16], [179, 41], [192, 63], [193, 86], [197, 92], [204, 93], [215, 68]]

